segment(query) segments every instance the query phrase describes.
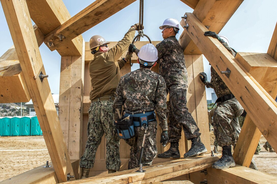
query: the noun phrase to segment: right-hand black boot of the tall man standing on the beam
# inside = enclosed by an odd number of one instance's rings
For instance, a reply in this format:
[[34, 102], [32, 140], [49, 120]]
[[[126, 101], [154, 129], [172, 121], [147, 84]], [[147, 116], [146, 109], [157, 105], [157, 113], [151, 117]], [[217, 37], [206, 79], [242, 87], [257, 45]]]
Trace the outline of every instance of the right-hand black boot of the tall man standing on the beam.
[[203, 153], [206, 153], [207, 149], [204, 144], [201, 142], [200, 136], [191, 138], [191, 148], [187, 153], [184, 154], [184, 158], [186, 157], [194, 157]]

